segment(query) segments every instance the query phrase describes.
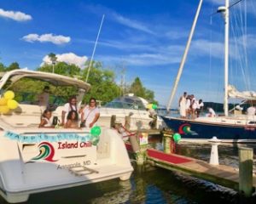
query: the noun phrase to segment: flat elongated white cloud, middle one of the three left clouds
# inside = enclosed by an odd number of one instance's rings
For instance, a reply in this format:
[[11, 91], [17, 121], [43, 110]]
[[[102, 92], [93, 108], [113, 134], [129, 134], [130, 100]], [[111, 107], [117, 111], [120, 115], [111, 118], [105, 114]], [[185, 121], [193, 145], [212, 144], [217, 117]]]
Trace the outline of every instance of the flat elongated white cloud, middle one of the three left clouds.
[[70, 37], [65, 37], [65, 36], [55, 36], [52, 33], [48, 34], [43, 34], [39, 36], [38, 34], [29, 34], [24, 37], [22, 37], [23, 40], [26, 42], [52, 42], [54, 44], [64, 44], [67, 42], [70, 42], [71, 38]]

